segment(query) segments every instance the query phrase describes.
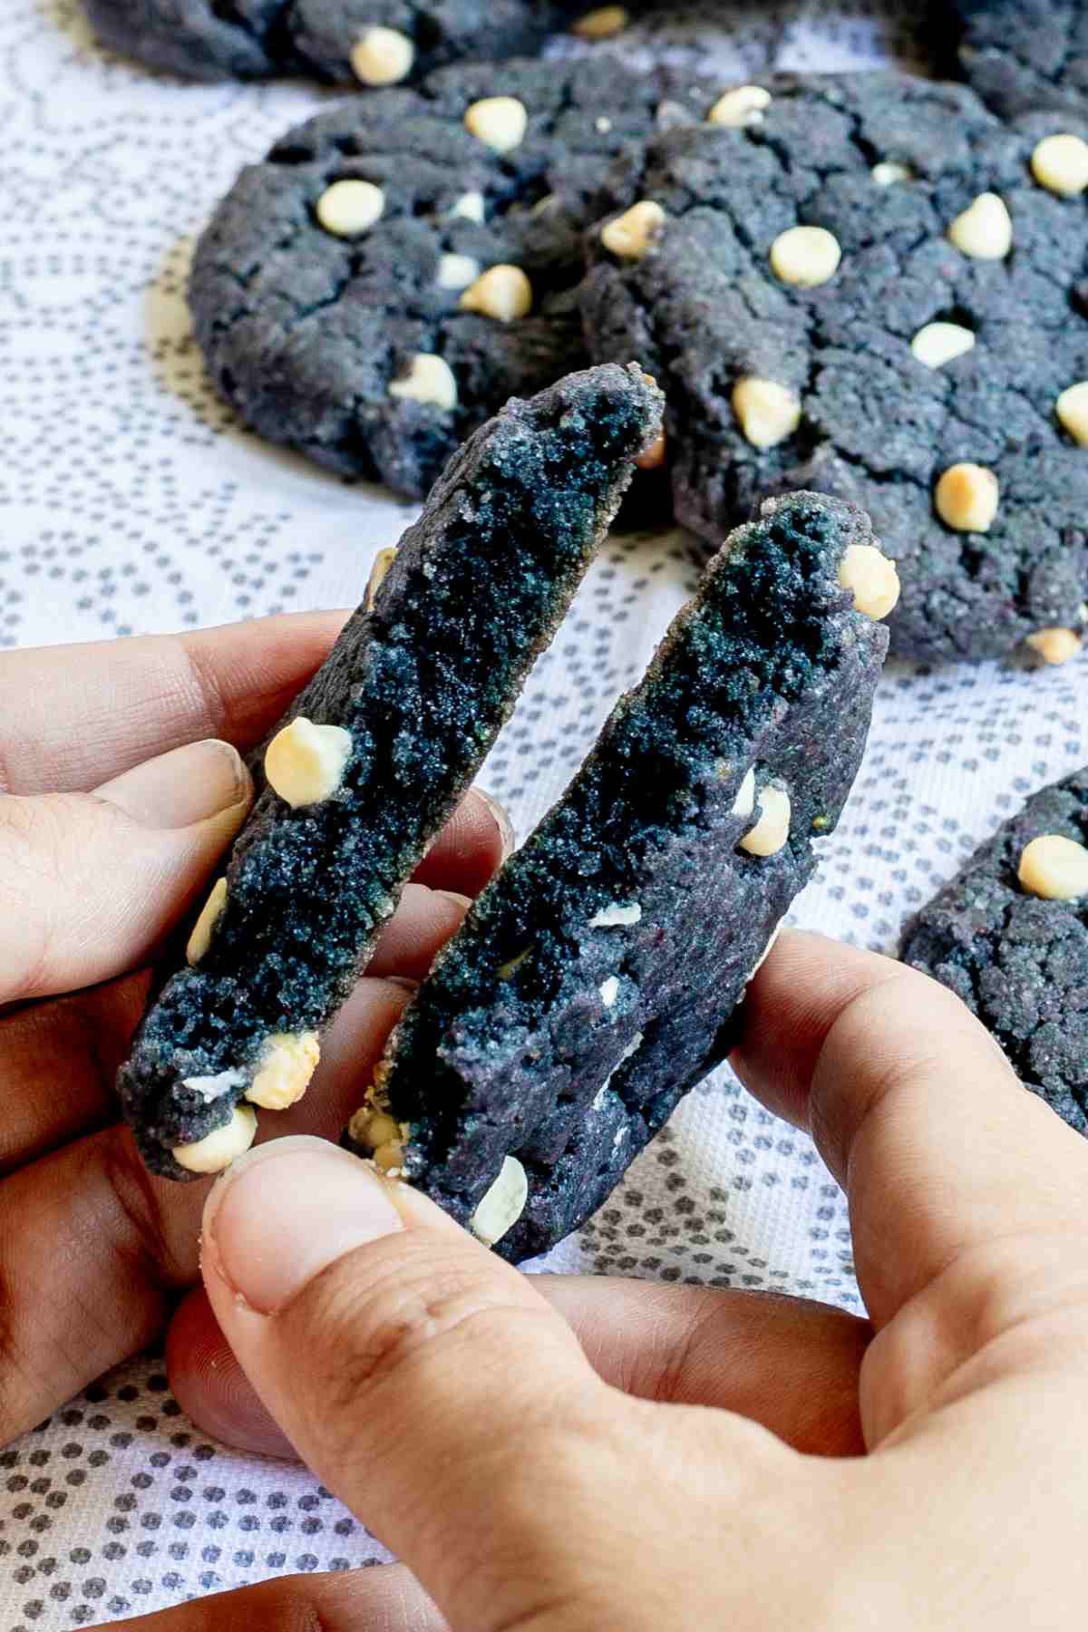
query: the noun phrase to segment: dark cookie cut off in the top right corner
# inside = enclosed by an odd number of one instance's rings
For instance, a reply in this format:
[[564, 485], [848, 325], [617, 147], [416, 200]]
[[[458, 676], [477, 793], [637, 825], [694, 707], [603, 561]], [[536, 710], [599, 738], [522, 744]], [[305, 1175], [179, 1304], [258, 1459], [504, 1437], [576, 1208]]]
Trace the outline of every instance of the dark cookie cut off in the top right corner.
[[1088, 114], [1085, 0], [953, 0], [959, 65], [995, 113]]

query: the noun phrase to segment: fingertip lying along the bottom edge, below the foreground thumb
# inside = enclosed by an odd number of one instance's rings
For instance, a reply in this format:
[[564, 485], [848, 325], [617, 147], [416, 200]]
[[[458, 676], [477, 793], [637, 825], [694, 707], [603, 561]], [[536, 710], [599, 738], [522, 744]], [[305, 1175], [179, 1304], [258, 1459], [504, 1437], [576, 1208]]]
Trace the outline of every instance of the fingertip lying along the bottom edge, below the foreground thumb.
[[447, 1622], [401, 1565], [284, 1575], [235, 1593], [212, 1593], [124, 1632], [445, 1632]]

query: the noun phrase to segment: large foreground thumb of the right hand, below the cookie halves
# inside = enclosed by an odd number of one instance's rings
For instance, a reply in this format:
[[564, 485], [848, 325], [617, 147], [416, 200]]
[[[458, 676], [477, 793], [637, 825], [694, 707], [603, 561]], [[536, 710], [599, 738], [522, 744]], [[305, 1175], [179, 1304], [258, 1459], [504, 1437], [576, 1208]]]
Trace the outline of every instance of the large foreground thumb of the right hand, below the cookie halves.
[[299, 1454], [455, 1627], [543, 1622], [577, 1591], [576, 1539], [618, 1490], [630, 1405], [532, 1278], [310, 1138], [219, 1180], [202, 1268]]

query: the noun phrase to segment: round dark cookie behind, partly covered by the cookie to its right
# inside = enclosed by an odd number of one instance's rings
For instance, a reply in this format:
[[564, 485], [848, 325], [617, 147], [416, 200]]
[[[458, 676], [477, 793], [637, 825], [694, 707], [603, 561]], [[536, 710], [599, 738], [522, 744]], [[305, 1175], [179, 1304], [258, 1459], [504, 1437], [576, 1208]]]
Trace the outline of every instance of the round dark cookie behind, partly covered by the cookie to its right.
[[705, 106], [615, 62], [511, 62], [290, 131], [197, 246], [191, 307], [215, 385], [269, 441], [424, 494], [507, 397], [584, 361], [573, 289], [600, 178], [661, 119]]

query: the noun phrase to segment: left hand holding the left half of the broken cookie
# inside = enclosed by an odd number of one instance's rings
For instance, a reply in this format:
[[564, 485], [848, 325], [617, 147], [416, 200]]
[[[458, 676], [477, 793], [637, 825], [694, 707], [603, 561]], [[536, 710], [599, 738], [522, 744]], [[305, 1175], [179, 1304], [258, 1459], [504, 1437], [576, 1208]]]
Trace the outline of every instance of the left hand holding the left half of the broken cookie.
[[[142, 966], [245, 819], [238, 749], [274, 725], [341, 622], [0, 658], [0, 1441], [150, 1343], [197, 1278], [209, 1186], [147, 1175], [113, 1079], [144, 1009]], [[471, 796], [409, 885], [310, 1095], [266, 1116], [266, 1136], [336, 1136], [406, 1002], [382, 976], [424, 973], [501, 850]], [[370, 1054], [346, 1053], [344, 1035]]]

